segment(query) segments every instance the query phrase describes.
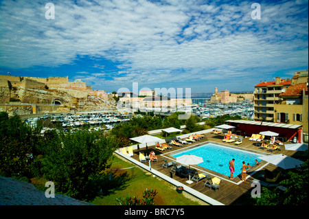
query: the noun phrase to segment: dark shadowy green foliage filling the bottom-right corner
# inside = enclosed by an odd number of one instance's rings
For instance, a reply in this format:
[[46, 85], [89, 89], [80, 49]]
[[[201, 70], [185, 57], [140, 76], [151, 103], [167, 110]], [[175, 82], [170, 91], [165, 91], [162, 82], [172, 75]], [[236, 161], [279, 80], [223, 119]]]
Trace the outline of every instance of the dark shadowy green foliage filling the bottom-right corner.
[[261, 198], [255, 205], [308, 205], [308, 160], [301, 168], [289, 171], [287, 178], [280, 182], [286, 191], [262, 187]]

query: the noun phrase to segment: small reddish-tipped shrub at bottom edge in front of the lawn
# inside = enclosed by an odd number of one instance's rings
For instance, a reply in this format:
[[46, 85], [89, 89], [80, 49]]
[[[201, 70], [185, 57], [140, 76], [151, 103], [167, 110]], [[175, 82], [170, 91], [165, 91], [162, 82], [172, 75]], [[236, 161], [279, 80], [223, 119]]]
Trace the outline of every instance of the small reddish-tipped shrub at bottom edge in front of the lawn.
[[157, 195], [157, 191], [153, 189], [146, 189], [143, 192], [143, 199], [137, 198], [136, 196], [126, 198], [117, 198], [117, 205], [155, 205], [154, 199]]

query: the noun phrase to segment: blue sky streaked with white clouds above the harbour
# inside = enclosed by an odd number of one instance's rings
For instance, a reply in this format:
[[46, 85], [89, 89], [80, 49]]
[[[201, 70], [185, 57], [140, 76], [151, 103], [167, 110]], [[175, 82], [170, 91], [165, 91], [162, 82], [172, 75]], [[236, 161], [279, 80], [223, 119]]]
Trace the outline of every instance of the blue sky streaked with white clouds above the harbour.
[[306, 69], [308, 1], [0, 1], [1, 74], [208, 93]]

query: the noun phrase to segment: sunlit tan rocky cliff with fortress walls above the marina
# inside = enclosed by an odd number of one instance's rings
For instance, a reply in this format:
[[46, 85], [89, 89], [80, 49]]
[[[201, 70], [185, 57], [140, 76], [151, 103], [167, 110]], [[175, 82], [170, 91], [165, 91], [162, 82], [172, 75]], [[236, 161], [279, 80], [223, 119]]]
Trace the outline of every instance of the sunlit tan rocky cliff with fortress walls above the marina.
[[[12, 77], [12, 78], [10, 78]], [[46, 80], [51, 81], [51, 80]], [[89, 111], [89, 110], [100, 110], [104, 108], [115, 108], [115, 100], [108, 98], [105, 91], [92, 91], [82, 89], [80, 87], [68, 86], [66, 80], [53, 80], [53, 87], [49, 88], [49, 83], [44, 83], [45, 80], [36, 81], [36, 78], [17, 78], [16, 76], [2, 76], [0, 75], [0, 104], [2, 110], [12, 113], [19, 108], [21, 111], [22, 105], [25, 104], [38, 104], [51, 106], [50, 111]], [[63, 84], [65, 83], [65, 84]], [[72, 82], [76, 83], [76, 82]], [[84, 83], [84, 82], [82, 82]], [[56, 84], [56, 85], [55, 85]], [[69, 87], [69, 89], [68, 89]], [[14, 107], [8, 107], [14, 105]], [[45, 106], [45, 111], [49, 111]], [[52, 107], [53, 106], [53, 107]], [[54, 107], [58, 106], [58, 107]], [[28, 108], [23, 108], [23, 114], [34, 113]], [[19, 113], [17, 113], [19, 114]]]

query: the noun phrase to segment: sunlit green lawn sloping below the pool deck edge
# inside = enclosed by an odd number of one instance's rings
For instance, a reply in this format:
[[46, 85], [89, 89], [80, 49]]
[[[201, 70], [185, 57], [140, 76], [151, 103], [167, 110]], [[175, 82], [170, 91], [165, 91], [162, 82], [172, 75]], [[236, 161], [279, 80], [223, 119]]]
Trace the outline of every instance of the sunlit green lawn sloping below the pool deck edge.
[[111, 163], [113, 163], [111, 169], [130, 168], [135, 166], [135, 168], [118, 170], [116, 172], [116, 174], [120, 174], [126, 171], [132, 178], [126, 182], [126, 187], [124, 189], [113, 191], [107, 196], [98, 196], [91, 201], [91, 203], [95, 205], [116, 205], [116, 198], [125, 198], [128, 195], [142, 198], [143, 191], [146, 188], [157, 189], [158, 193], [155, 196], [155, 205], [205, 205], [201, 200], [192, 200], [195, 198], [190, 197], [186, 192], [179, 194], [176, 192], [176, 187], [174, 185], [162, 180], [158, 176], [152, 176], [149, 172], [142, 170], [129, 161], [124, 161], [114, 155]]

